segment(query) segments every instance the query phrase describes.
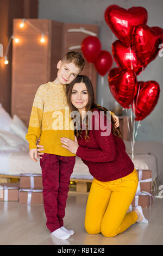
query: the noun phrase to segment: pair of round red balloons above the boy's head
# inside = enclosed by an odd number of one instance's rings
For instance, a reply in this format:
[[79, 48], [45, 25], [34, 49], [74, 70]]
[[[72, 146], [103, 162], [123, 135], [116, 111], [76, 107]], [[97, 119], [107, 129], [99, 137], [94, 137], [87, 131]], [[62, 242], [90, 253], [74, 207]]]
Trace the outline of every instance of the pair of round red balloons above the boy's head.
[[97, 72], [104, 76], [112, 65], [112, 56], [101, 50], [101, 42], [96, 36], [87, 36], [82, 41], [82, 52], [87, 62], [94, 63]]

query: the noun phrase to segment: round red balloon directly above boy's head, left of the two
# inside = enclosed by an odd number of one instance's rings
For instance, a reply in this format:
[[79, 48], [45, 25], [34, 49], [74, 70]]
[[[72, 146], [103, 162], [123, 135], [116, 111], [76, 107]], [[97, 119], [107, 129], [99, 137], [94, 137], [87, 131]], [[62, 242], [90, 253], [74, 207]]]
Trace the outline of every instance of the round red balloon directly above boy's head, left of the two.
[[95, 62], [101, 52], [101, 42], [96, 36], [87, 36], [82, 41], [82, 52], [88, 62]]

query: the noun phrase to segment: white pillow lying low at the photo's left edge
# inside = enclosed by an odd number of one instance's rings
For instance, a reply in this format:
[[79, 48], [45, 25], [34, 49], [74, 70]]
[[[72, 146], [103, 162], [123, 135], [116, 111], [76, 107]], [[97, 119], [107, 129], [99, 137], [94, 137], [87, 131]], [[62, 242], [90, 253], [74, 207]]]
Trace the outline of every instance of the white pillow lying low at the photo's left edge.
[[24, 140], [17, 136], [16, 134], [13, 134], [8, 131], [0, 131], [0, 136], [4, 139], [5, 142], [7, 142], [11, 147], [19, 147], [20, 145], [23, 145], [25, 142]]

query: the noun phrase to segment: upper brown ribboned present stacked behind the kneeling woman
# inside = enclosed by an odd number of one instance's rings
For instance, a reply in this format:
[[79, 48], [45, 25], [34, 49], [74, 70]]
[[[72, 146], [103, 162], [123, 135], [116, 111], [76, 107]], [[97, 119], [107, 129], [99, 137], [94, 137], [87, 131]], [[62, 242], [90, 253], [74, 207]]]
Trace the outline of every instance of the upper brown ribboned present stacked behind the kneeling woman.
[[136, 170], [138, 174], [139, 183], [136, 193], [146, 191], [151, 193], [152, 191], [152, 171], [151, 170]]

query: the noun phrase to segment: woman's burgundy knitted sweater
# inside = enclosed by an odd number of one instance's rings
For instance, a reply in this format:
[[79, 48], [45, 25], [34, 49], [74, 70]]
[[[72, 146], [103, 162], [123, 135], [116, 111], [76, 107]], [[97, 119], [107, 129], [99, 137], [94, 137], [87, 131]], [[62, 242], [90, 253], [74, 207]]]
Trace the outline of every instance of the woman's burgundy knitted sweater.
[[[95, 129], [96, 122], [99, 123], [99, 130]], [[99, 181], [120, 179], [133, 172], [134, 164], [126, 153], [126, 146], [121, 138], [114, 136], [112, 132], [108, 136], [101, 136], [101, 132], [106, 130], [101, 130], [100, 122], [100, 118], [92, 118], [90, 139], [85, 140], [85, 131], [83, 131], [83, 139], [78, 138], [79, 147], [76, 155], [87, 165], [95, 179]], [[106, 125], [106, 117], [104, 124]]]

